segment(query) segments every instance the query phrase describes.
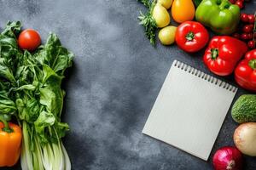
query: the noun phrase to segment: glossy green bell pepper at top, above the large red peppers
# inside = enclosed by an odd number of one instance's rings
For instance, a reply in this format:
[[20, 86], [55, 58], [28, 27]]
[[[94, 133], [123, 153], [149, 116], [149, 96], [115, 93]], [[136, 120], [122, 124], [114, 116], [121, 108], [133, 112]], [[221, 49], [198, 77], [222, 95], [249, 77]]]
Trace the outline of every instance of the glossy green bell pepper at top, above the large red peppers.
[[195, 11], [195, 19], [218, 34], [236, 31], [240, 8], [229, 0], [203, 0]]

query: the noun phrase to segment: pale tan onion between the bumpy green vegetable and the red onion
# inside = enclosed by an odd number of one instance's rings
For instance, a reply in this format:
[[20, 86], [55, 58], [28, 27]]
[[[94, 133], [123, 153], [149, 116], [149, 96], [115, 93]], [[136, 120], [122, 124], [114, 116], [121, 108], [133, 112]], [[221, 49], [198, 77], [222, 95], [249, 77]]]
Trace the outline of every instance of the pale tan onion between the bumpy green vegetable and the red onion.
[[236, 128], [234, 143], [241, 153], [256, 156], [256, 122], [247, 122]]

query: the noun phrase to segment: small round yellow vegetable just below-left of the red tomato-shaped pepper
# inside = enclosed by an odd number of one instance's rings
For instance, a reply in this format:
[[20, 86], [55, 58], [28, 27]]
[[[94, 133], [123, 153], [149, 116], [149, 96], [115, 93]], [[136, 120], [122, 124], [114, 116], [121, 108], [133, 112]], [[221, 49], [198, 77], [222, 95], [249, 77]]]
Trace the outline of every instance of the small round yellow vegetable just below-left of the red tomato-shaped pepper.
[[171, 45], [174, 43], [176, 31], [176, 26], [166, 26], [165, 28], [162, 28], [158, 33], [160, 42], [164, 45]]

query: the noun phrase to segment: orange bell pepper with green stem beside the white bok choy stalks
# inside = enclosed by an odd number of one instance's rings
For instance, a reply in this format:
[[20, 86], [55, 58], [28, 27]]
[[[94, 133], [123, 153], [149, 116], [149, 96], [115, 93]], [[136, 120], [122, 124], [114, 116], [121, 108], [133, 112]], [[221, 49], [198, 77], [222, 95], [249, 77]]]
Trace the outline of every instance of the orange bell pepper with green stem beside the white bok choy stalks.
[[18, 125], [0, 116], [0, 167], [12, 167], [20, 158], [22, 132]]

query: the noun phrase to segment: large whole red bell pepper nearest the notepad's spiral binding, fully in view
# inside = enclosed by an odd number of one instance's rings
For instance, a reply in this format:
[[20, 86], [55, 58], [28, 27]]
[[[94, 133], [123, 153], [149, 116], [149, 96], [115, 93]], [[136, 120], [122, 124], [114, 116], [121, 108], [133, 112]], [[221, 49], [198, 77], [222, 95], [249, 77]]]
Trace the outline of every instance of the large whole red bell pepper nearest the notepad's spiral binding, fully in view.
[[228, 76], [246, 52], [247, 44], [234, 37], [212, 37], [204, 55], [204, 63], [214, 74]]

